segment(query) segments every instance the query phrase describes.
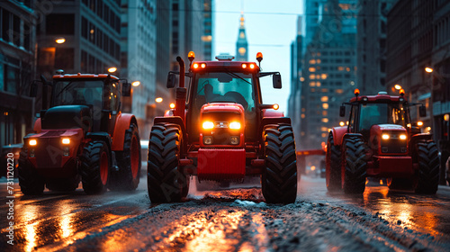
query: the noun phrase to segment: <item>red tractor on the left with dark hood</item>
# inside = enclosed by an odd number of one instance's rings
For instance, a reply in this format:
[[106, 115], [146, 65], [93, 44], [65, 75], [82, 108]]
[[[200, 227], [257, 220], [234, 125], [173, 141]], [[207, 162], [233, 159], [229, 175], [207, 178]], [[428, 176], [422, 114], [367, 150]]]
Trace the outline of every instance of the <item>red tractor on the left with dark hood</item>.
[[[42, 110], [35, 133], [23, 138], [19, 184], [25, 195], [73, 191], [80, 180], [87, 194], [107, 188], [130, 191], [139, 184], [140, 144], [134, 115], [121, 112], [130, 84], [110, 75], [64, 75], [42, 83]], [[51, 89], [47, 106], [48, 89]]]

